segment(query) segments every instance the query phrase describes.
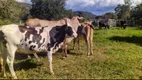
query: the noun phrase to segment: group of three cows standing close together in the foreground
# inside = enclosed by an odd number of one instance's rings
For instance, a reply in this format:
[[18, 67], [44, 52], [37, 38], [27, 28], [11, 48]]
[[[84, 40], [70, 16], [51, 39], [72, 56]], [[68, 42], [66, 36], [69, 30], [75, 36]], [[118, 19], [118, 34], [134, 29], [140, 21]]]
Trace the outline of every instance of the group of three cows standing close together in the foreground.
[[63, 57], [67, 57], [67, 44], [72, 40], [77, 40], [83, 36], [87, 45], [87, 55], [93, 54], [93, 30], [92, 21], [80, 23], [82, 17], [74, 16], [58, 21], [48, 21], [41, 19], [29, 19], [25, 25], [17, 24], [4, 25], [0, 27], [0, 52], [1, 52], [1, 72], [5, 77], [5, 65], [8, 64], [10, 73], [14, 79], [17, 76], [13, 63], [15, 52], [18, 48], [33, 51], [34, 54], [45, 50], [47, 52], [50, 73], [54, 75], [52, 69], [52, 54], [62, 48]]

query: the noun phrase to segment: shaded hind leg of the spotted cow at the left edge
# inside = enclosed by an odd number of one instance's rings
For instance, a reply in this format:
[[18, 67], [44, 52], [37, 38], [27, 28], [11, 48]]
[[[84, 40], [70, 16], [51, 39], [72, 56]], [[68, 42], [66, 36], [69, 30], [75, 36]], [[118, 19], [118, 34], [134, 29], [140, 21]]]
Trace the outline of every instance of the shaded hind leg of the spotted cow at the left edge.
[[7, 60], [7, 50], [5, 48], [4, 51], [2, 52], [2, 57], [1, 57], [1, 72], [3, 77], [6, 77], [5, 74], [6, 60]]

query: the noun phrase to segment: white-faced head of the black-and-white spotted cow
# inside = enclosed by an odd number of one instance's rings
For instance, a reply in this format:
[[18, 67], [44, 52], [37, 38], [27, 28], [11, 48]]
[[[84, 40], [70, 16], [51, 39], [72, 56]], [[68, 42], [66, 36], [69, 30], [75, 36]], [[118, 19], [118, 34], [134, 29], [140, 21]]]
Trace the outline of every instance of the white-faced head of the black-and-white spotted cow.
[[67, 37], [77, 37], [75, 29], [69, 24], [66, 24], [65, 34]]

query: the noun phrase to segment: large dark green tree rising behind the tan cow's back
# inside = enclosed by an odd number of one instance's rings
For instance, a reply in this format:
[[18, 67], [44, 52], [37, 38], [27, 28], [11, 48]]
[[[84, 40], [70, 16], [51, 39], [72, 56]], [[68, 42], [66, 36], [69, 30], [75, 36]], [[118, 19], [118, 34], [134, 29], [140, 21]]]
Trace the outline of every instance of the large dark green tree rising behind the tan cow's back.
[[32, 0], [30, 13], [34, 18], [61, 19], [65, 16], [65, 0]]

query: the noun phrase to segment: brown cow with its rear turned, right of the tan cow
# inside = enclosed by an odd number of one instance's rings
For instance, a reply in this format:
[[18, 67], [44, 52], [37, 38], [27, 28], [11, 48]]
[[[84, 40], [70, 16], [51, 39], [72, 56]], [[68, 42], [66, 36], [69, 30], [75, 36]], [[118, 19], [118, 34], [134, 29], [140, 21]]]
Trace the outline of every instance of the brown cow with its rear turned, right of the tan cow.
[[83, 36], [87, 46], [87, 56], [92, 55], [93, 54], [93, 32], [94, 32], [94, 26], [92, 25], [92, 21], [85, 21], [84, 23], [82, 23], [80, 29], [78, 29], [77, 31], [78, 37], [75, 38], [73, 41], [73, 49], [75, 47], [76, 41], [78, 43], [78, 49], [80, 49], [79, 40], [80, 40], [80, 37]]

